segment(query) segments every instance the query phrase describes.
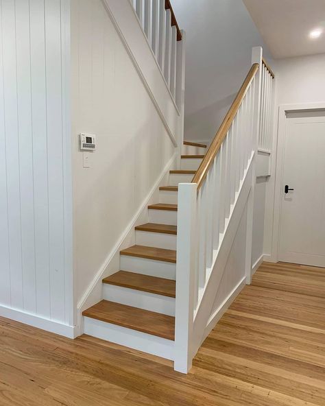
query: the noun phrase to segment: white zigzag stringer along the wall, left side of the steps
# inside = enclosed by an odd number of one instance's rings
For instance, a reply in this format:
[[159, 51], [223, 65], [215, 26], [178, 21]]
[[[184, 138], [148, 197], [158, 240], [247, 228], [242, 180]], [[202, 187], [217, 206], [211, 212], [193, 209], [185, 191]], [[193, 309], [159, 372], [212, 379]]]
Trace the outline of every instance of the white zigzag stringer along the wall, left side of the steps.
[[82, 317], [82, 312], [88, 307], [95, 305], [97, 302], [103, 299], [103, 283], [102, 280], [111, 274], [114, 274], [119, 270], [120, 265], [120, 251], [134, 245], [135, 243], [135, 230], [136, 226], [140, 224], [149, 222], [148, 208], [149, 204], [154, 204], [158, 201], [159, 187], [166, 184], [169, 177], [169, 171], [171, 169], [176, 169], [178, 158], [178, 151], [176, 150], [173, 156], [165, 165], [163, 171], [161, 171], [160, 176], [156, 180], [156, 183], [149, 191], [139, 210], [135, 213], [134, 217], [131, 219], [128, 226], [125, 228], [125, 232], [118, 239], [115, 247], [108, 253], [104, 263], [95, 274], [91, 284], [88, 289], [84, 292], [80, 302], [77, 303], [77, 326], [75, 337], [84, 333], [84, 318]]

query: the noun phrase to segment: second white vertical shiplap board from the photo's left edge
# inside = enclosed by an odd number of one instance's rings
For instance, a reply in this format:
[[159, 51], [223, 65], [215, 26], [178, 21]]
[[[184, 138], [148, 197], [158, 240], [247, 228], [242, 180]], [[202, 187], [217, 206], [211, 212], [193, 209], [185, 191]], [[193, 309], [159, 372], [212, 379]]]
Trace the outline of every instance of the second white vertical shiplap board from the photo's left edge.
[[12, 0], [2, 0], [2, 34], [11, 306], [23, 309], [21, 197], [19, 191], [19, 130], [16, 75], [16, 21], [15, 3]]

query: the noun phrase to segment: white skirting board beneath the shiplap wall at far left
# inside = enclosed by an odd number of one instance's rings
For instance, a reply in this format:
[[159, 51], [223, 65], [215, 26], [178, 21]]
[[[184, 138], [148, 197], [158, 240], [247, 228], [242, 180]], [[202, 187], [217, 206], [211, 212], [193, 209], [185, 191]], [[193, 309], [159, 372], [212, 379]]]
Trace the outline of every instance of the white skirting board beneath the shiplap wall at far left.
[[36, 327], [37, 329], [49, 331], [50, 333], [63, 335], [64, 337], [77, 337], [75, 326], [68, 326], [67, 324], [62, 324], [60, 322], [41, 318], [38, 315], [25, 313], [18, 309], [11, 309], [10, 307], [0, 306], [0, 316], [14, 320], [16, 322], [28, 324], [29, 326]]

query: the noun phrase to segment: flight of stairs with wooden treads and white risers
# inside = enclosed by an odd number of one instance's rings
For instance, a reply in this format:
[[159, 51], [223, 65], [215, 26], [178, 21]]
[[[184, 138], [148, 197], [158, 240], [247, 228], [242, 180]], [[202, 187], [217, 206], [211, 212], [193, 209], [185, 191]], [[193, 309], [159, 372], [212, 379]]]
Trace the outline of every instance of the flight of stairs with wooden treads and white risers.
[[120, 252], [120, 270], [103, 280], [103, 300], [86, 309], [84, 333], [174, 359], [178, 184], [191, 182], [206, 145], [184, 142], [181, 169], [169, 172], [136, 245]]

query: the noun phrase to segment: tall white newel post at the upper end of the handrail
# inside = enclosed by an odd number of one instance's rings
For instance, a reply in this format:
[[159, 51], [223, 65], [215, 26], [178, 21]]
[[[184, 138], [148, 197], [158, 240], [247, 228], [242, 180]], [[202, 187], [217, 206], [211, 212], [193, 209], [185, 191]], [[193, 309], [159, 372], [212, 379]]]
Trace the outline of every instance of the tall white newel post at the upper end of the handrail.
[[252, 49], [252, 64], [258, 63], [258, 71], [255, 75], [255, 95], [254, 95], [254, 119], [252, 130], [252, 187], [248, 198], [247, 212], [247, 229], [246, 229], [246, 256], [245, 256], [245, 275], [246, 283], [252, 283], [252, 237], [253, 237], [253, 219], [254, 219], [254, 195], [256, 184], [256, 159], [258, 149], [258, 136], [261, 119], [261, 80], [262, 80], [262, 47], [254, 47]]

